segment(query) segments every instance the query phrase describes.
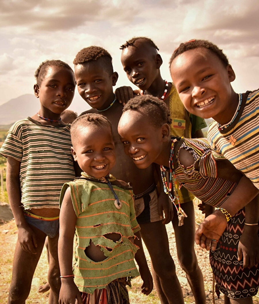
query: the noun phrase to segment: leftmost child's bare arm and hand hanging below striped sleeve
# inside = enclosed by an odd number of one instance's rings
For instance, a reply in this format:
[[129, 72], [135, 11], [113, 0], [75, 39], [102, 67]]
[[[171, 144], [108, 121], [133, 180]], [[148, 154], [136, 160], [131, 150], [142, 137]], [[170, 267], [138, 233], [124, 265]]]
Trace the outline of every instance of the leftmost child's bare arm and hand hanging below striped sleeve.
[[34, 232], [26, 222], [21, 203], [20, 188], [21, 162], [8, 156], [6, 168], [6, 189], [15, 223], [18, 228], [18, 240], [24, 251], [36, 254], [37, 240]]

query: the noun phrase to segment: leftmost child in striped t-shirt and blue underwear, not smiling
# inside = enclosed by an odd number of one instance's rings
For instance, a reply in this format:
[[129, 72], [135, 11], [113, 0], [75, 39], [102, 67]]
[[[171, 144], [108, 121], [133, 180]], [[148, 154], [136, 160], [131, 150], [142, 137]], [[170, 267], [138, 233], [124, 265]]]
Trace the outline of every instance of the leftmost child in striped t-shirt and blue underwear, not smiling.
[[47, 60], [38, 67], [35, 77], [34, 94], [40, 109], [11, 127], [0, 150], [7, 157], [6, 188], [18, 227], [8, 298], [12, 304], [25, 303], [46, 236], [50, 252], [49, 303], [58, 303], [58, 202], [62, 185], [75, 176], [70, 125], [60, 118], [74, 96], [74, 73], [63, 61]]

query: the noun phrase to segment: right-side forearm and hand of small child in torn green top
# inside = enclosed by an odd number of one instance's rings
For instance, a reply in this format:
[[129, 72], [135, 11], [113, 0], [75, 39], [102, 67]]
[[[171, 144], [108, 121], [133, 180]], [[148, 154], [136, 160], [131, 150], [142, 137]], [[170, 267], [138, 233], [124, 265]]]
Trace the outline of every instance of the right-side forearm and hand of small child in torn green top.
[[141, 279], [143, 280], [143, 284], [141, 286], [143, 289], [141, 292], [143, 292], [145, 295], [149, 295], [153, 289], [153, 278], [148, 268], [148, 263], [143, 250], [140, 231], [135, 232], [134, 235], [136, 236], [134, 244], [139, 247], [138, 251], [135, 254], [135, 260], [138, 263], [138, 271], [140, 273]]

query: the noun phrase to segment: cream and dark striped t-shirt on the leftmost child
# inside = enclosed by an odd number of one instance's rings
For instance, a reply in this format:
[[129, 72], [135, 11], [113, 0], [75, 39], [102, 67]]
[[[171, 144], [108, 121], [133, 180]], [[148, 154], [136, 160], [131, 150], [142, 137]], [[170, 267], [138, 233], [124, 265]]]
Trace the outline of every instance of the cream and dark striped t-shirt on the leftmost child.
[[9, 130], [0, 153], [21, 162], [24, 209], [59, 208], [63, 184], [75, 177], [70, 125], [46, 126], [30, 117]]

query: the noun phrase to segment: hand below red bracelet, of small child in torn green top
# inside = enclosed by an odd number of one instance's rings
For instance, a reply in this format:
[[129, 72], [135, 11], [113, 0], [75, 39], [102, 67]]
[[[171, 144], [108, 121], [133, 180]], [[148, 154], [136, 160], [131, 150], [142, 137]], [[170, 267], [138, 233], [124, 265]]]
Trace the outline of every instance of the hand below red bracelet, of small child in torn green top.
[[83, 304], [80, 291], [73, 278], [64, 278], [63, 281], [60, 288], [59, 304], [75, 304], [76, 299], [78, 304]]

